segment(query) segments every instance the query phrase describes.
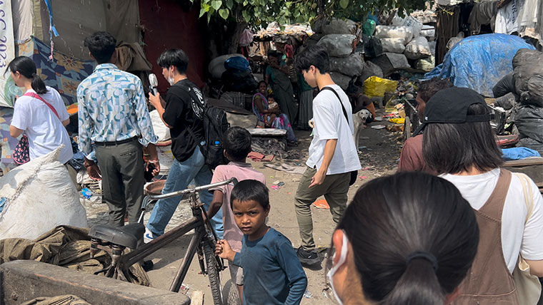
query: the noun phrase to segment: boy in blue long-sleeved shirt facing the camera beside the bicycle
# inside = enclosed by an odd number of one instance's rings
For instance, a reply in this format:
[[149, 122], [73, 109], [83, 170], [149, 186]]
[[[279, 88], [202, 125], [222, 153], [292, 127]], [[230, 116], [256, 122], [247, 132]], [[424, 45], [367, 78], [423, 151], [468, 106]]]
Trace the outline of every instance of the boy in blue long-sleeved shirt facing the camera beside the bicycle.
[[216, 253], [243, 268], [243, 304], [300, 304], [307, 276], [290, 240], [265, 224], [269, 214], [266, 185], [256, 180], [239, 182], [230, 204], [244, 233], [241, 252], [219, 240]]

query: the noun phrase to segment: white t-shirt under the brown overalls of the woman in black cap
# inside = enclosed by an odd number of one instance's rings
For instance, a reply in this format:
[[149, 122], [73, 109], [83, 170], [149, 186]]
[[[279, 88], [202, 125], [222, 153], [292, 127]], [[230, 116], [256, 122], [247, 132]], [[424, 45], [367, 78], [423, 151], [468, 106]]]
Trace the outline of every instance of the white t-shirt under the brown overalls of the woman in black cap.
[[[479, 210], [487, 202], [498, 182], [499, 168], [485, 172], [481, 175], [458, 176], [440, 175], [454, 184], [462, 197], [475, 210]], [[543, 259], [543, 197], [535, 183], [530, 180], [534, 210], [532, 216], [526, 222], [528, 210], [526, 198], [522, 190], [522, 184], [516, 175], [512, 175], [509, 191], [505, 197], [504, 210], [502, 212], [502, 250], [504, 259], [513, 273], [517, 264], [519, 253], [524, 259]], [[524, 225], [526, 222], [526, 225]]]

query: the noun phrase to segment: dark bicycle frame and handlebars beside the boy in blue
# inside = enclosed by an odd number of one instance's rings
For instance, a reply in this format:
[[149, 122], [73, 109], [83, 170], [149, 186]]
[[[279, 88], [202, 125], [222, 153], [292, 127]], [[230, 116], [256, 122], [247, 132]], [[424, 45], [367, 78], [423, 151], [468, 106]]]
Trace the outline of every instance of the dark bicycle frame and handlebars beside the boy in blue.
[[[151, 242], [147, 244], [143, 244], [141, 247], [138, 247], [137, 249], [134, 249], [127, 254], [112, 255], [113, 261], [111, 262], [111, 266], [120, 267], [124, 272], [124, 270], [128, 269], [133, 264], [136, 264], [136, 262], [141, 262], [141, 260], [143, 260], [145, 257], [148, 257], [149, 255], [153, 254], [157, 250], [164, 247], [166, 244], [169, 244], [170, 242], [174, 242], [174, 240], [183, 236], [184, 234], [189, 232], [191, 229], [194, 229], [195, 231], [194, 235], [191, 237], [189, 247], [186, 249], [183, 260], [181, 261], [181, 265], [179, 266], [179, 269], [177, 270], [174, 280], [171, 282], [171, 286], [169, 290], [174, 291], [174, 292], [179, 292], [179, 289], [181, 288], [181, 284], [184, 280], [184, 277], [186, 276], [186, 273], [189, 271], [192, 258], [194, 257], [194, 254], [196, 254], [196, 252], [198, 252], [199, 254], [201, 271], [202, 273], [205, 274], [206, 270], [204, 268], [204, 263], [203, 263], [203, 254], [201, 254], [201, 247], [202, 247], [201, 243], [210, 242], [211, 243], [210, 246], [212, 247], [212, 249], [214, 249], [215, 247], [214, 242], [216, 241], [216, 233], [214, 232], [214, 229], [211, 226], [209, 219], [207, 218], [207, 214], [202, 208], [203, 204], [199, 202], [198, 200], [196, 200], [196, 192], [199, 192], [200, 190], [208, 190], [213, 187], [219, 187], [221, 185], [228, 185], [230, 183], [234, 183], [234, 184], [237, 183], [236, 178], [231, 178], [229, 180], [224, 180], [222, 182], [217, 182], [210, 185], [202, 185], [201, 187], [194, 187], [191, 189], [171, 192], [168, 194], [146, 196], [144, 198], [144, 203], [141, 207], [142, 210], [144, 210], [146, 206], [149, 205], [149, 202], [153, 200], [176, 197], [179, 195], [184, 195], [184, 194], [189, 193], [191, 210], [192, 210], [193, 215], [186, 222], [179, 224], [177, 227], [175, 227], [174, 229], [171, 229], [169, 232], [166, 232], [165, 234], [161, 235], [160, 237], [157, 237], [156, 239], [153, 239]], [[202, 214], [205, 215], [205, 219], [204, 217], [202, 217]], [[139, 222], [143, 222], [143, 217], [144, 217], [144, 212], [141, 213]], [[209, 236], [208, 230], [209, 232], [211, 232], [212, 237]], [[98, 248], [106, 252], [111, 252], [110, 249], [107, 249], [106, 247], [101, 246], [101, 245], [99, 245]], [[216, 262], [217, 262], [219, 271], [224, 270], [225, 267], [224, 267], [224, 264], [222, 263], [222, 259], [216, 259]], [[124, 273], [126, 276], [126, 272]]]

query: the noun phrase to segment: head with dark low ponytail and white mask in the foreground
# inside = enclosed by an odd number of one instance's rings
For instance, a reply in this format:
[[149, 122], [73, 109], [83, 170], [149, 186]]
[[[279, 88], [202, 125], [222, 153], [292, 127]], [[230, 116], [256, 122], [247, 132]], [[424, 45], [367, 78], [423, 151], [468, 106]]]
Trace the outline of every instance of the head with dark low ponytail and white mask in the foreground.
[[472, 266], [479, 227], [452, 183], [419, 172], [362, 186], [332, 237], [339, 304], [450, 304]]

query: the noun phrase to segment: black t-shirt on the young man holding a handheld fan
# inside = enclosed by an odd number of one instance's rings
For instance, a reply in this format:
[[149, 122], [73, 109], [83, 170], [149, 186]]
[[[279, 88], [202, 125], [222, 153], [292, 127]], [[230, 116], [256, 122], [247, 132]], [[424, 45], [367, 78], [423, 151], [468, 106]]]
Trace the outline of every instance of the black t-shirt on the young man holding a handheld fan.
[[204, 123], [194, 112], [193, 107], [196, 105], [193, 106], [193, 98], [184, 87], [191, 88], [201, 99], [194, 103], [203, 103], [198, 87], [188, 79], [184, 79], [168, 89], [166, 108], [164, 108], [164, 115], [162, 115], [164, 122], [171, 126], [171, 153], [179, 162], [189, 159], [198, 144], [194, 141], [188, 128], [192, 129], [196, 137], [199, 138], [199, 142], [204, 140]]

